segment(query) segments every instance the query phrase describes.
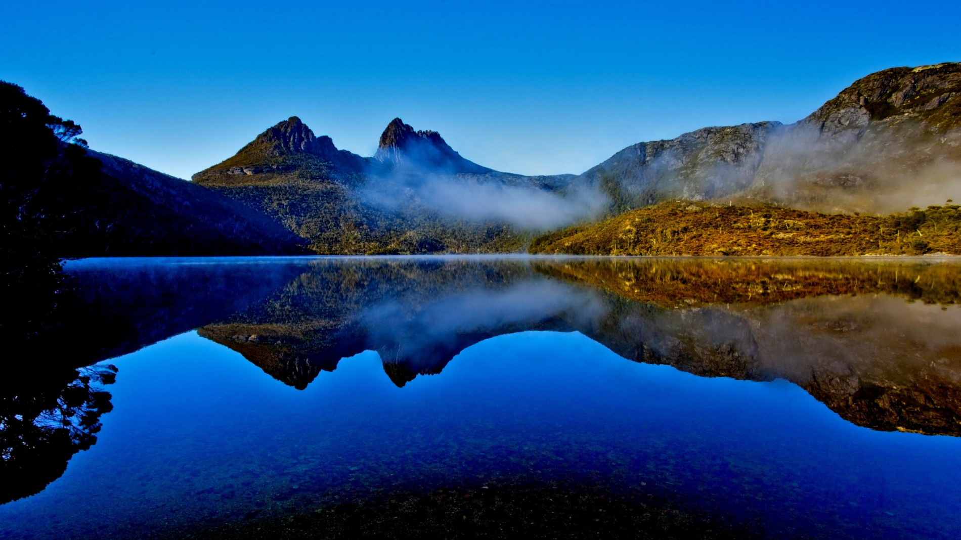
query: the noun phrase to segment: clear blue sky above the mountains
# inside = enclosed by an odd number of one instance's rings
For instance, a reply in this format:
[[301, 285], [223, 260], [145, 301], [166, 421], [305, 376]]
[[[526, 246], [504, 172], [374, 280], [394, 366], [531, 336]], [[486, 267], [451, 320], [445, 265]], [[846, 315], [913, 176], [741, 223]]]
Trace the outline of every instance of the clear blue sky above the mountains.
[[579, 173], [642, 140], [793, 122], [886, 67], [961, 61], [961, 2], [0, 3], [0, 79], [182, 178], [278, 121], [363, 156], [402, 117], [464, 157]]

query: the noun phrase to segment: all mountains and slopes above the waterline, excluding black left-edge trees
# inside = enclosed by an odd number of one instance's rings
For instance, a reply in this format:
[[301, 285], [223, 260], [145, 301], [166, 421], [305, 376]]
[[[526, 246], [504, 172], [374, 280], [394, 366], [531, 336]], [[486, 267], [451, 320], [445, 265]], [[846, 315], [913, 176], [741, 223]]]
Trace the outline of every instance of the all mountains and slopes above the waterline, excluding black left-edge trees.
[[957, 62], [873, 73], [793, 124], [640, 142], [579, 175], [495, 171], [400, 118], [361, 157], [293, 116], [192, 182], [87, 155], [98, 196], [71, 210], [86, 217], [62, 257], [961, 254]]

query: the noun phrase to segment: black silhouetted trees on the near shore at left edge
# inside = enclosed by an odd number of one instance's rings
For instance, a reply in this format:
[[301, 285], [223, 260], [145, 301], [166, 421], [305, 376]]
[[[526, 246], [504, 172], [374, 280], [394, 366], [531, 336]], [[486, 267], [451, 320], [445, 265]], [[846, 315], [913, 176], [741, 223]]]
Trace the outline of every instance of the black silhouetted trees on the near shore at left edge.
[[22, 87], [0, 81], [0, 335], [37, 334], [56, 306], [58, 245], [74, 217], [63, 202], [83, 197], [83, 181], [100, 174], [82, 133]]

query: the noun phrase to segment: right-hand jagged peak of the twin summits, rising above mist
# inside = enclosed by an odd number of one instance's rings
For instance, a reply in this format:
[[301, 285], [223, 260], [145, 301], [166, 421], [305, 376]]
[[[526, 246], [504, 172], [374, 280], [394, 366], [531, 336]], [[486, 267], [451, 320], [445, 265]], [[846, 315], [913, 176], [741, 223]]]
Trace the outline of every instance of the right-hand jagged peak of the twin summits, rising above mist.
[[374, 160], [394, 169], [475, 174], [492, 172], [487, 167], [462, 158], [437, 132], [416, 131], [400, 118], [391, 120], [383, 130]]

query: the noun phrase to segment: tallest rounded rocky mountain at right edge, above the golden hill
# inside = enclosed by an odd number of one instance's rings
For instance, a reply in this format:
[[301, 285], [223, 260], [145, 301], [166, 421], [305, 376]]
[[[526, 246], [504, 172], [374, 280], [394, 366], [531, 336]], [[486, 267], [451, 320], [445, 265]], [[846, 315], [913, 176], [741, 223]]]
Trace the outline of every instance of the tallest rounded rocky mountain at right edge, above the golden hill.
[[752, 196], [898, 211], [961, 187], [961, 63], [896, 67], [845, 88], [766, 148]]

